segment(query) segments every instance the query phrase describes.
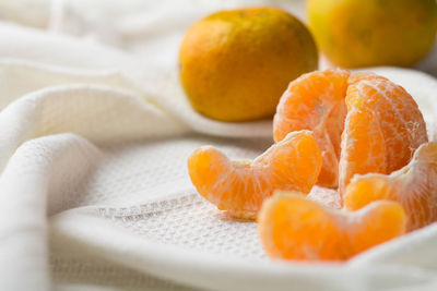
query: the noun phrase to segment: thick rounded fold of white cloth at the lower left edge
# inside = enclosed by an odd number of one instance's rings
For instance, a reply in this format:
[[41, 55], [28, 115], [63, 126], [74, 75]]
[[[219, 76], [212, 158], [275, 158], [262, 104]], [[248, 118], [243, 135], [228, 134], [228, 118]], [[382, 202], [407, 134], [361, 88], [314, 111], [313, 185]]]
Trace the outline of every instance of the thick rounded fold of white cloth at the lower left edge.
[[71, 134], [29, 141], [11, 157], [0, 178], [2, 290], [50, 289], [47, 197], [56, 204], [55, 193], [80, 183], [96, 162], [98, 150]]

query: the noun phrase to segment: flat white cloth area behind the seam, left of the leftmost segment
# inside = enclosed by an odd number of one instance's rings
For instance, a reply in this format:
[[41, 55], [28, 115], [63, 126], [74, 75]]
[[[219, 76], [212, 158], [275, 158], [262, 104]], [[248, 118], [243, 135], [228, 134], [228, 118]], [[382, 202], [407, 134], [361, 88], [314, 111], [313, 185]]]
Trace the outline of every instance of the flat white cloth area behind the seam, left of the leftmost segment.
[[69, 189], [60, 205], [62, 209], [85, 205], [131, 205], [154, 196], [192, 187], [188, 177], [187, 157], [199, 146], [213, 145], [231, 158], [253, 158], [271, 145], [270, 138], [220, 138], [196, 134], [168, 138], [143, 140], [102, 147], [98, 168], [87, 182]]

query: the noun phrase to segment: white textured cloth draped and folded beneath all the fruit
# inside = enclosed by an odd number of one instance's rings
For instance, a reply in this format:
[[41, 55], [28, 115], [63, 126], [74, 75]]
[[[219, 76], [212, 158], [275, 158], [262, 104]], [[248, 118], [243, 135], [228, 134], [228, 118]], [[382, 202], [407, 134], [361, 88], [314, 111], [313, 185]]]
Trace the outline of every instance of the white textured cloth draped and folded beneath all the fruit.
[[[436, 225], [343, 265], [279, 263], [256, 223], [196, 194], [196, 147], [251, 158], [272, 143], [269, 121], [199, 116], [177, 81], [185, 29], [243, 4], [303, 16], [300, 1], [0, 0], [0, 290], [436, 290]], [[435, 136], [437, 81], [374, 71]]]

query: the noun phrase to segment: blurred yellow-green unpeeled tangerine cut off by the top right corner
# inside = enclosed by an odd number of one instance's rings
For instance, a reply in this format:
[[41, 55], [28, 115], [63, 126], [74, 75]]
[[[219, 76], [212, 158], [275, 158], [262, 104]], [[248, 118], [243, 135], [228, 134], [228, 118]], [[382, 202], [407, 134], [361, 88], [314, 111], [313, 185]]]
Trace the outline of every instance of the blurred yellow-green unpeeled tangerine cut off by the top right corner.
[[434, 43], [435, 0], [308, 0], [317, 44], [340, 66], [409, 66]]

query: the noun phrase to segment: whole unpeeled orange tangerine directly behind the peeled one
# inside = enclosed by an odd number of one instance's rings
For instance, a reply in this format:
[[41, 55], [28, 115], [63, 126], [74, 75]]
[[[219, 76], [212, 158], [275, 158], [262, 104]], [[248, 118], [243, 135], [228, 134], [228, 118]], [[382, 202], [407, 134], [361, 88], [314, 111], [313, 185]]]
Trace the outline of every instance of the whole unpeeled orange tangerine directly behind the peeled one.
[[300, 21], [274, 8], [213, 13], [190, 27], [179, 50], [191, 106], [222, 121], [274, 114], [291, 80], [317, 69], [315, 41]]

